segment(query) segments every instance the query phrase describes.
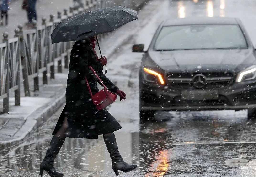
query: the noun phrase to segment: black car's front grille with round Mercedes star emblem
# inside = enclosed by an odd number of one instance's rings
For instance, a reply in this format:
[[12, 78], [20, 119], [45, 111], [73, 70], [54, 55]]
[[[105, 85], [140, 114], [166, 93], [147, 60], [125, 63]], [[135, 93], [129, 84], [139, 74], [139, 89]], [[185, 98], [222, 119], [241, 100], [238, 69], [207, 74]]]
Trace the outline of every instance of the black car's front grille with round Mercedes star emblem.
[[[233, 74], [231, 72], [172, 73], [167, 75], [167, 80], [172, 87], [178, 89], [214, 89], [229, 86], [232, 82], [232, 76]], [[204, 83], [200, 85], [200, 82], [198, 82], [196, 84], [195, 82], [198, 80]]]

